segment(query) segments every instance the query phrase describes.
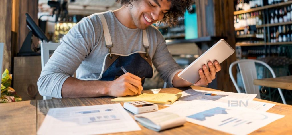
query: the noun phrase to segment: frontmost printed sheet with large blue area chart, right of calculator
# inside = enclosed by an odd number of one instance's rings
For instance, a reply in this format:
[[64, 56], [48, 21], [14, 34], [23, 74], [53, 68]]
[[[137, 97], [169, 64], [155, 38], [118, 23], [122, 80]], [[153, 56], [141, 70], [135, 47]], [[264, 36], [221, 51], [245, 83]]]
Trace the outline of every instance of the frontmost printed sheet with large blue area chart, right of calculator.
[[188, 122], [230, 134], [249, 134], [284, 117], [246, 108], [226, 107], [224, 103], [210, 100], [188, 101], [159, 111], [176, 113], [185, 116]]

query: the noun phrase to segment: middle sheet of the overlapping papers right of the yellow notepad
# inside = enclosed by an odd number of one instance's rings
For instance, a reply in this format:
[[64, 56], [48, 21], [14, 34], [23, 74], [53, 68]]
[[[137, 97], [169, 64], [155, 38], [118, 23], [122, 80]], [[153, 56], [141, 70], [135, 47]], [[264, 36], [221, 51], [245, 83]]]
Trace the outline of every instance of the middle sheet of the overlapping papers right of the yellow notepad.
[[[183, 94], [184, 92], [182, 92]], [[266, 112], [267, 110], [274, 107], [276, 104], [273, 103], [265, 103], [260, 101], [253, 101], [253, 100], [245, 100], [245, 99], [238, 99], [238, 98], [228, 98], [228, 97], [221, 97], [221, 96], [208, 96], [208, 95], [191, 95], [191, 96], [184, 96], [175, 101], [172, 105], [182, 104], [188, 101], [193, 100], [212, 100], [221, 103], [225, 103], [226, 107], [244, 107], [252, 110], [259, 110]], [[165, 105], [170, 106], [170, 105]]]

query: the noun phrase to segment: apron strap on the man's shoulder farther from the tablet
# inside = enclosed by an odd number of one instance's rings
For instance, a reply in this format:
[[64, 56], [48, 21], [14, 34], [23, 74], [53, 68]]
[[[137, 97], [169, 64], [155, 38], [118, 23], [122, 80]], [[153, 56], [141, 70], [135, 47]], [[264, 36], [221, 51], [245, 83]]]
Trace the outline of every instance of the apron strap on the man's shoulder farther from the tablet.
[[105, 36], [105, 47], [109, 49], [109, 55], [110, 55], [109, 58], [112, 59], [111, 47], [113, 47], [113, 45], [112, 45], [112, 38], [109, 33], [109, 28], [107, 26], [107, 20], [105, 20], [105, 16], [103, 14], [98, 14], [98, 17], [100, 18], [103, 34]]

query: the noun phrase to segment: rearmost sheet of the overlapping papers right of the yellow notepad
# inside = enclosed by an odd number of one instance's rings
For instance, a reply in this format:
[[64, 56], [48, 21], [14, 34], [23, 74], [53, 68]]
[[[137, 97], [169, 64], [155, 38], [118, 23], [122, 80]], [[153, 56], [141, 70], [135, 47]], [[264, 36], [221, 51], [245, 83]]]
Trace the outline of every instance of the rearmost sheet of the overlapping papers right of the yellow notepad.
[[223, 92], [223, 91], [203, 91], [203, 90], [195, 90], [195, 89], [188, 89], [186, 91], [183, 91], [181, 97], [197, 95], [197, 94], [238, 98], [238, 99], [245, 99], [245, 100], [253, 100], [253, 98], [256, 97], [256, 94], [233, 93], [233, 92]]

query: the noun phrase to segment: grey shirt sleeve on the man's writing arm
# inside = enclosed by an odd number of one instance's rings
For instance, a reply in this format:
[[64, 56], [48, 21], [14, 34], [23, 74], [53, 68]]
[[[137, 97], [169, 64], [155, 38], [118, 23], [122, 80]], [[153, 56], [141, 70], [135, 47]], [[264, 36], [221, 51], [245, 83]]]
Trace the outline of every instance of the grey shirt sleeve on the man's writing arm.
[[37, 82], [42, 96], [62, 98], [65, 80], [76, 72], [95, 45], [95, 31], [90, 18], [83, 18], [60, 40]]

